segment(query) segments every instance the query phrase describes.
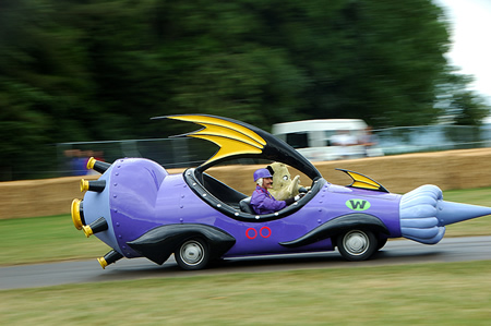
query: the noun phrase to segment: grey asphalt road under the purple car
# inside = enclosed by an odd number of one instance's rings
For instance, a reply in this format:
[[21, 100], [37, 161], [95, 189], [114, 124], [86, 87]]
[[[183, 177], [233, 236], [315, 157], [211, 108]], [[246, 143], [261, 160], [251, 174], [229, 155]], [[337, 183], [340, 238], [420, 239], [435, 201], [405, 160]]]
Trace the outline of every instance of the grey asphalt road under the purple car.
[[121, 259], [103, 269], [96, 259], [0, 267], [0, 290], [100, 282], [153, 277], [189, 277], [230, 273], [256, 273], [310, 268], [366, 267], [419, 263], [491, 259], [491, 236], [448, 238], [424, 245], [409, 240], [390, 241], [366, 262], [346, 262], [338, 252], [228, 259], [204, 270], [179, 269], [173, 257], [164, 265], [146, 258]]

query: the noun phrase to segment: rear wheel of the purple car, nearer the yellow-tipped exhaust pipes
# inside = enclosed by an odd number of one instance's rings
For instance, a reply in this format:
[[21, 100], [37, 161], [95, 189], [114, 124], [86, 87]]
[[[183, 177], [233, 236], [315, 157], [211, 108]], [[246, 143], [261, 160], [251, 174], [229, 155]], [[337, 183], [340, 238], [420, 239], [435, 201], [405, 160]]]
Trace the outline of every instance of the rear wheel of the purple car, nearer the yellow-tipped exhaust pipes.
[[196, 238], [184, 241], [175, 252], [179, 267], [196, 270], [206, 267], [209, 261], [209, 250], [206, 241]]

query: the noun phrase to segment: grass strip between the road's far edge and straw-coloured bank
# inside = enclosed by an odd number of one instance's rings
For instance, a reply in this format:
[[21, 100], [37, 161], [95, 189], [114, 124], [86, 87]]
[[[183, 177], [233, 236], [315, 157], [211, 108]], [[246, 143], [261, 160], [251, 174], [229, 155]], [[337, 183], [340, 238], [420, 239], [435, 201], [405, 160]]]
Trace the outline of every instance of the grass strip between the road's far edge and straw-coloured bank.
[[[491, 188], [447, 191], [446, 201], [491, 206]], [[70, 203], [68, 203], [70, 205]], [[445, 237], [490, 236], [491, 216], [447, 227]], [[0, 265], [32, 264], [104, 256], [110, 247], [85, 238], [69, 215], [0, 220]]]

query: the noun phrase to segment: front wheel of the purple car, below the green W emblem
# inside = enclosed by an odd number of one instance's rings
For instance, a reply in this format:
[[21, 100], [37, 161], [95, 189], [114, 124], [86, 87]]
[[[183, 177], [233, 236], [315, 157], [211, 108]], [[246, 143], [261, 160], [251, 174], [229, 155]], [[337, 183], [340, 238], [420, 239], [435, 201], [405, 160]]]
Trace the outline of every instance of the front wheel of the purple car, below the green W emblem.
[[339, 253], [347, 261], [368, 259], [378, 249], [375, 236], [370, 231], [350, 230], [337, 238]]

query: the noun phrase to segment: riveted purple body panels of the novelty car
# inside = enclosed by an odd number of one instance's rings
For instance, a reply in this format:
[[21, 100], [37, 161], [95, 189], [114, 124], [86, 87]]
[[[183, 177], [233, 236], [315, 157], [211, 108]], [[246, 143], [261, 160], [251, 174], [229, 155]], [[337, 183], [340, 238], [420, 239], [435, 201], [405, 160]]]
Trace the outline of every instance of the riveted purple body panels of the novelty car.
[[[331, 241], [296, 249], [279, 243], [300, 238], [333, 218], [355, 212], [346, 205], [350, 200], [368, 201], [370, 208], [363, 213], [378, 216], [387, 226], [391, 237], [400, 237], [400, 196], [395, 194], [326, 183], [297, 213], [273, 221], [244, 222], [214, 209], [194, 194], [182, 174], [168, 174], [151, 160], [119, 159], [106, 173], [110, 173], [105, 192], [109, 192], [111, 229], [120, 253], [129, 258], [140, 255], [127, 242], [158, 226], [172, 224], [203, 224], [226, 230], [237, 242], [225, 256], [333, 250]], [[84, 204], [93, 206], [89, 197], [85, 197]], [[98, 217], [97, 214], [86, 216], [86, 222]]]

